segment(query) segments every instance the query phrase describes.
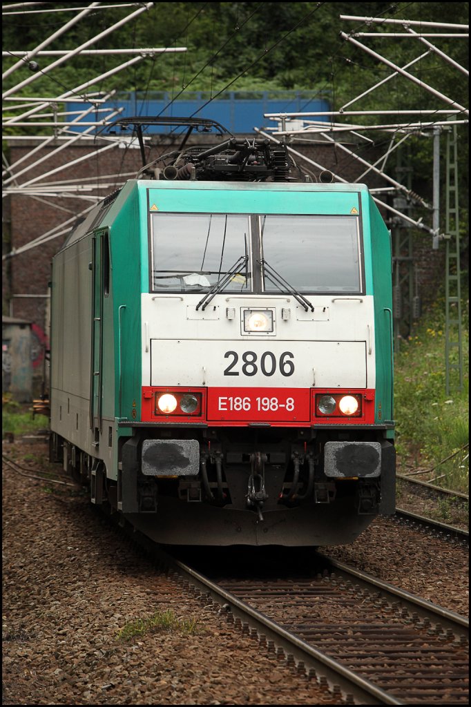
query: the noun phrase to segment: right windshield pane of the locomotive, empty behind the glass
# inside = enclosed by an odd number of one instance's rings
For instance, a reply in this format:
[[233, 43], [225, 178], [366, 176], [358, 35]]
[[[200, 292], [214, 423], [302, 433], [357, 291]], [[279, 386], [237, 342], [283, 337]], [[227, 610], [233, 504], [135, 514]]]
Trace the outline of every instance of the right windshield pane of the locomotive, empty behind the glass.
[[[261, 216], [262, 254], [301, 292], [361, 292], [356, 216]], [[267, 292], [279, 290], [264, 277]]]

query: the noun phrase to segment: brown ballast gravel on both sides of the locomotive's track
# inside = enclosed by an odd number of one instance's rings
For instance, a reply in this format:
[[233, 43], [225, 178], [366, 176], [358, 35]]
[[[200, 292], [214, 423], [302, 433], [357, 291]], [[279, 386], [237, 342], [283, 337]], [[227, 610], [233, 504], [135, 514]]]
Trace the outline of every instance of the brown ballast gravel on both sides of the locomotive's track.
[[[4, 443], [4, 704], [338, 704], [156, 570], [47, 462], [41, 441]], [[24, 472], [23, 473], [27, 473]], [[326, 554], [467, 614], [467, 549], [378, 519]], [[168, 609], [192, 632], [118, 632]]]

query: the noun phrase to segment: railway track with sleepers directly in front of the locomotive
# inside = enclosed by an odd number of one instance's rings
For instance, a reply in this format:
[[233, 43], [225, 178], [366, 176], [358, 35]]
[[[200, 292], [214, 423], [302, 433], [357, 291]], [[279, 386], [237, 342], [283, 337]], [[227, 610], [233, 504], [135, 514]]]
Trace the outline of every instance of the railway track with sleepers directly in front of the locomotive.
[[468, 701], [469, 623], [459, 614], [321, 555], [315, 576], [283, 579], [211, 579], [184, 561], [164, 561], [236, 628], [339, 701]]

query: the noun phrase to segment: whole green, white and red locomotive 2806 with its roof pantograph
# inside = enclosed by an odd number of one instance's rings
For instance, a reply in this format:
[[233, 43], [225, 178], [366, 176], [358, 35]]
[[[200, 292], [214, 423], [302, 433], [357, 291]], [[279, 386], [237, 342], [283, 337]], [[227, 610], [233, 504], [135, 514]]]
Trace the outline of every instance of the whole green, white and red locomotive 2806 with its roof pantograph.
[[390, 232], [368, 188], [208, 119], [117, 124], [143, 156], [144, 126], [186, 132], [53, 259], [52, 460], [163, 544], [352, 542], [395, 512]]

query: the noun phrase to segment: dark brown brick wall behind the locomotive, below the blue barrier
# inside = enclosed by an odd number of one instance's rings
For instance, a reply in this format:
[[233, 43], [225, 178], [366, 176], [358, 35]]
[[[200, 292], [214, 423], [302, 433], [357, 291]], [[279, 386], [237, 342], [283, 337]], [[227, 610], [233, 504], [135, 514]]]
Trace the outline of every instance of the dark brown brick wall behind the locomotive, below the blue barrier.
[[[7, 199], [4, 206], [4, 234], [8, 237], [10, 233], [11, 247], [18, 249], [22, 245], [30, 243], [33, 239], [46, 233], [48, 230], [59, 226], [63, 221], [79, 214], [80, 211], [92, 204], [92, 201], [82, 199], [81, 196], [100, 193], [105, 197], [115, 189], [116, 179], [111, 177], [110, 187], [96, 190], [97, 177], [100, 175], [115, 175], [117, 173], [132, 173], [134, 175], [141, 167], [141, 156], [138, 149], [110, 148], [105, 152], [100, 152], [109, 143], [93, 145], [77, 144], [69, 146], [56, 154], [52, 152], [61, 143], [51, 144], [42, 148], [33, 157], [28, 157], [21, 168], [34, 163], [42, 156], [48, 155], [47, 160], [40, 165], [32, 166], [19, 178], [21, 184], [42, 175], [50, 170], [59, 168], [57, 173], [42, 178], [38, 185], [45, 182], [58, 182], [61, 180], [77, 179], [83, 180], [83, 187], [91, 187], [91, 192], [81, 192], [81, 194], [71, 194], [70, 197], [58, 198], [55, 196], [30, 197], [24, 194], [14, 194]], [[10, 163], [30, 153], [35, 146], [33, 141], [25, 140], [21, 144], [13, 144], [10, 148]], [[159, 155], [176, 148], [170, 139], [161, 136], [158, 144], [146, 148], [147, 160], [151, 161]], [[341, 175], [346, 180], [355, 180], [366, 167], [359, 164], [344, 153], [340, 148], [331, 144], [314, 144], [307, 142], [294, 142], [293, 148], [305, 154], [308, 158], [315, 160], [332, 172]], [[354, 149], [354, 146], [350, 146]], [[375, 149], [368, 152], [362, 151], [364, 159], [374, 161], [377, 158]], [[75, 160], [88, 156], [88, 159], [72, 164]], [[320, 170], [303, 163], [302, 160], [294, 157], [301, 168], [301, 173], [307, 170], [316, 177]], [[20, 167], [18, 167], [19, 169]], [[307, 170], [306, 170], [307, 168]], [[124, 177], [128, 178], [128, 177]], [[123, 178], [120, 179], [122, 181]], [[104, 180], [102, 180], [104, 181]], [[369, 187], [384, 187], [384, 180], [369, 173], [364, 180]], [[380, 197], [385, 200], [387, 197]], [[383, 216], [388, 219], [390, 214], [383, 211]], [[66, 226], [68, 230], [71, 224]], [[417, 233], [417, 232], [414, 232]], [[66, 235], [61, 235], [47, 243], [27, 250], [21, 255], [16, 255], [7, 259], [3, 263], [3, 300], [4, 313], [13, 317], [19, 317], [33, 322], [36, 327], [37, 336], [41, 337], [41, 332], [45, 329], [47, 284], [50, 281], [50, 267], [52, 257], [64, 242]], [[11, 250], [6, 245], [6, 250]], [[443, 281], [443, 250], [442, 246], [438, 251], [431, 250], [431, 236], [419, 232], [417, 238], [414, 235], [414, 257], [417, 258], [419, 268], [419, 285], [424, 296], [424, 303], [433, 299], [438, 284]], [[5, 252], [5, 245], [4, 245]], [[23, 297], [22, 297], [23, 295]], [[27, 295], [27, 297], [24, 297]], [[36, 366], [37, 368], [38, 366]]]

